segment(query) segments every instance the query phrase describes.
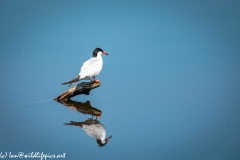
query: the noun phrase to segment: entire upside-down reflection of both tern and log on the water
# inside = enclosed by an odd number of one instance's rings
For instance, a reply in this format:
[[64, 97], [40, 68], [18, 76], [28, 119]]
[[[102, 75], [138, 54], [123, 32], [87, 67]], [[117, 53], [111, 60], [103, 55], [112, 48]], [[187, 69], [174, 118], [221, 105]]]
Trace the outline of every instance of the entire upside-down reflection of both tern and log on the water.
[[[83, 122], [70, 121], [69, 123], [64, 123], [64, 125], [81, 127], [86, 132], [87, 135], [95, 137], [98, 145], [101, 147], [107, 144], [107, 142], [112, 136], [106, 138], [105, 127], [97, 120], [97, 118], [100, 118], [102, 111], [92, 107], [89, 101], [85, 103], [76, 102], [72, 100], [64, 100], [58, 102], [67, 107], [70, 107], [75, 111], [81, 112], [83, 114], [92, 115], [92, 118], [89, 118], [86, 121]], [[96, 119], [93, 119], [93, 116], [96, 116]]]

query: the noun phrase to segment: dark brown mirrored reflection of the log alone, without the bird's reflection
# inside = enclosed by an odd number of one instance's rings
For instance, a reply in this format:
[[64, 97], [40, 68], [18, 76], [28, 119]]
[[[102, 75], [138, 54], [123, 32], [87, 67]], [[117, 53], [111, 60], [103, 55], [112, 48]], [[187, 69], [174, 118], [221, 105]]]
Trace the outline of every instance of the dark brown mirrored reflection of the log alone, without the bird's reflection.
[[81, 112], [82, 114], [90, 114], [92, 116], [100, 117], [102, 115], [102, 111], [97, 108], [91, 106], [90, 102], [87, 101], [85, 103], [76, 102], [72, 100], [57, 100], [59, 103], [71, 108], [74, 111]]

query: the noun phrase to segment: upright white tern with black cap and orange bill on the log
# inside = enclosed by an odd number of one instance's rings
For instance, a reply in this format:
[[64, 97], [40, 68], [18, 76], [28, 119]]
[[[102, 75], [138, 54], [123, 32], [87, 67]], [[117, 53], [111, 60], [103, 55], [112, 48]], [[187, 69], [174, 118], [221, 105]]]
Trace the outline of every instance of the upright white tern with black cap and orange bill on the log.
[[96, 48], [93, 51], [92, 58], [83, 63], [80, 73], [78, 76], [70, 81], [64, 82], [63, 84], [69, 84], [78, 82], [80, 80], [94, 80], [96, 81], [96, 76], [101, 72], [103, 60], [102, 54], [108, 55], [107, 52], [104, 52], [101, 48]]

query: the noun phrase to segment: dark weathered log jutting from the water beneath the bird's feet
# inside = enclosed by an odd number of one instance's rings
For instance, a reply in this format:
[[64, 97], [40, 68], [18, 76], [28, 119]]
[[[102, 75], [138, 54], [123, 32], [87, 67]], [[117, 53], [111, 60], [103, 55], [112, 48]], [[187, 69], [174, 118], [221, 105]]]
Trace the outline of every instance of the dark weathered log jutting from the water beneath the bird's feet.
[[71, 87], [70, 89], [59, 95], [57, 98], [55, 98], [55, 100], [70, 99], [71, 97], [79, 94], [89, 95], [91, 89], [97, 88], [100, 85], [100, 82], [82, 82], [76, 86]]

